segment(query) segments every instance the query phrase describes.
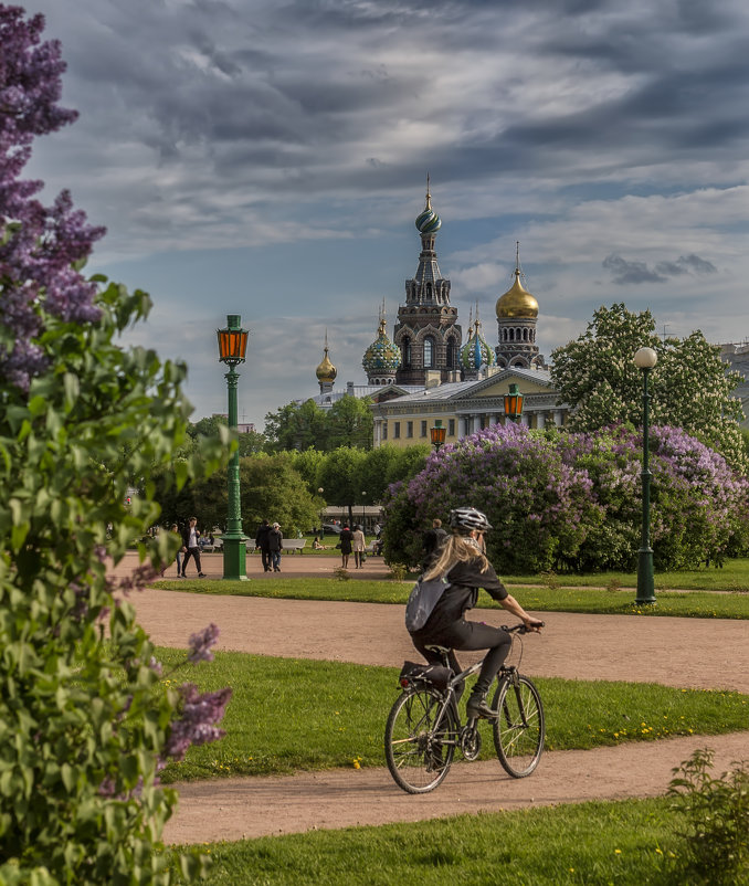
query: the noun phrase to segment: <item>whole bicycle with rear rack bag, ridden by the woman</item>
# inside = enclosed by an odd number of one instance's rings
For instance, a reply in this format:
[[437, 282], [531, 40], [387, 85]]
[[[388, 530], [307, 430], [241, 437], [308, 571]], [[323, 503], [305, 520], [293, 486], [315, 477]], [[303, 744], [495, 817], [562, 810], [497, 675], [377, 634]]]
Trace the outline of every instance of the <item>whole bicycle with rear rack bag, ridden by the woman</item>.
[[[503, 625], [513, 641], [528, 633], [524, 624]], [[407, 662], [400, 676], [403, 688], [390, 710], [384, 729], [384, 756], [395, 784], [408, 793], [433, 791], [446, 777], [458, 749], [473, 761], [482, 748], [478, 720], [461, 722], [456, 687], [483, 664], [454, 674], [445, 646], [429, 646], [443, 658], [443, 666]], [[521, 657], [521, 656], [520, 656]], [[518, 661], [519, 665], [519, 661]], [[538, 766], [546, 735], [544, 705], [534, 683], [517, 665], [503, 665], [490, 707], [494, 748], [508, 776], [526, 778]]]

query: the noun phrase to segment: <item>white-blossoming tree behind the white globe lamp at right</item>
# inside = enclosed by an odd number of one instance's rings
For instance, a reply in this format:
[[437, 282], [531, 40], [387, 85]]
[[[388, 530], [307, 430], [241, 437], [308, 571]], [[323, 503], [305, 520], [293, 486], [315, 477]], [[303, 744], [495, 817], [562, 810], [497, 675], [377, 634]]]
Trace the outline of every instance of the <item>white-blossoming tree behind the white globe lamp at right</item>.
[[633, 314], [623, 304], [600, 307], [583, 335], [551, 355], [551, 380], [573, 410], [570, 430], [642, 424], [642, 371], [633, 362], [642, 347], [658, 357], [648, 377], [652, 423], [683, 428], [746, 468], [737, 424], [743, 413], [731, 397], [741, 377], [726, 371], [720, 349], [699, 330], [661, 339], [650, 310]]

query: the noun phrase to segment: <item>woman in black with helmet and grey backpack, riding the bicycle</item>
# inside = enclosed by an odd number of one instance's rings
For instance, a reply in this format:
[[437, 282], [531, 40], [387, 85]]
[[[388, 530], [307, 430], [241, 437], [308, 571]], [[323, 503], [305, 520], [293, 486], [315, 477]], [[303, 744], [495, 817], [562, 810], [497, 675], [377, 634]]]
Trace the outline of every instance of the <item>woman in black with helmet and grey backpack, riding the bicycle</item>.
[[492, 526], [486, 515], [473, 507], [450, 511], [452, 535], [434, 555], [424, 572], [430, 580], [445, 576], [450, 587], [437, 600], [432, 614], [419, 631], [411, 634], [413, 645], [430, 664], [442, 664], [441, 656], [429, 645], [449, 646], [450, 666], [461, 672], [453, 650], [488, 650], [478, 679], [466, 704], [468, 717], [492, 718], [495, 713], [486, 704], [486, 694], [510, 647], [510, 636], [502, 627], [466, 621], [466, 610], [476, 605], [478, 589], [484, 588], [499, 604], [517, 615], [527, 629], [540, 632], [544, 622], [529, 615], [497, 578], [494, 567], [481, 552], [479, 539]]

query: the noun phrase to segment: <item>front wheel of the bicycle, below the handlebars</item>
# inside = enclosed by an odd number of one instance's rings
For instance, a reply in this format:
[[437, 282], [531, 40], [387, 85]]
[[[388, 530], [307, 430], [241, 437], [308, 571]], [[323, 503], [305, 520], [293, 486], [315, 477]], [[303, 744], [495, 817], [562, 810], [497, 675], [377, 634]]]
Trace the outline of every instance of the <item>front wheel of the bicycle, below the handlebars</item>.
[[529, 776], [544, 753], [544, 706], [538, 689], [528, 677], [505, 677], [494, 695], [492, 720], [494, 747], [507, 774]]

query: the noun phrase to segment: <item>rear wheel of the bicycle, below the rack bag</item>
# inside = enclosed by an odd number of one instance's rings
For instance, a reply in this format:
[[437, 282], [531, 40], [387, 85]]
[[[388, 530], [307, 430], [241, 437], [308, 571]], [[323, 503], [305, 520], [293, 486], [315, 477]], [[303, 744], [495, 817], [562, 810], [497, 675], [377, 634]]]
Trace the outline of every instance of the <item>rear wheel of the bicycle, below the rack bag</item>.
[[414, 688], [404, 692], [390, 710], [384, 759], [395, 784], [408, 793], [433, 791], [450, 770], [457, 724], [449, 707], [436, 726], [442, 703], [436, 689]]

